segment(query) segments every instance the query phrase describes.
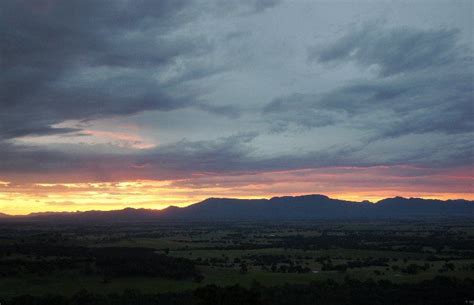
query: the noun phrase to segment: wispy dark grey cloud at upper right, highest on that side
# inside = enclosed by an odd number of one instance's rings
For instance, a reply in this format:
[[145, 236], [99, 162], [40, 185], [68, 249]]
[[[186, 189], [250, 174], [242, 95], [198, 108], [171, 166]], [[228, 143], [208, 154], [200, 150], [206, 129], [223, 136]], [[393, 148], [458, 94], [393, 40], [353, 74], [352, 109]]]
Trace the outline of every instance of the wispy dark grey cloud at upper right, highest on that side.
[[386, 29], [370, 24], [327, 46], [311, 48], [308, 56], [321, 63], [377, 65], [381, 75], [390, 76], [450, 63], [458, 56], [458, 38], [456, 29]]

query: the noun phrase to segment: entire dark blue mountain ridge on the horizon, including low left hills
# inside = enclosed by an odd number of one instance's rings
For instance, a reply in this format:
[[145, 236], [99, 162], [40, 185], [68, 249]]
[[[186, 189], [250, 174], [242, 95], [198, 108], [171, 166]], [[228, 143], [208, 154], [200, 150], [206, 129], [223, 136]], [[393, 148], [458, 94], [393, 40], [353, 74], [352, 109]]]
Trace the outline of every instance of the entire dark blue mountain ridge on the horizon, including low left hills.
[[271, 199], [209, 198], [184, 207], [163, 210], [126, 208], [115, 211], [49, 212], [27, 216], [0, 216], [2, 220], [56, 220], [80, 222], [138, 222], [157, 220], [316, 220], [474, 217], [474, 202], [394, 197], [377, 203], [331, 199], [324, 195]]

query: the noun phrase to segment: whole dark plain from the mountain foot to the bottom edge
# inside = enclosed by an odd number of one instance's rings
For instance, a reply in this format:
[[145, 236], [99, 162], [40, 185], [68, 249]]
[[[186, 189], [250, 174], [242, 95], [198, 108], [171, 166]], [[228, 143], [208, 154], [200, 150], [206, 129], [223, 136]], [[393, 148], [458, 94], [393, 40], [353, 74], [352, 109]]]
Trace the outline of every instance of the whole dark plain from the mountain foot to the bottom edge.
[[0, 223], [2, 305], [473, 300], [471, 219]]

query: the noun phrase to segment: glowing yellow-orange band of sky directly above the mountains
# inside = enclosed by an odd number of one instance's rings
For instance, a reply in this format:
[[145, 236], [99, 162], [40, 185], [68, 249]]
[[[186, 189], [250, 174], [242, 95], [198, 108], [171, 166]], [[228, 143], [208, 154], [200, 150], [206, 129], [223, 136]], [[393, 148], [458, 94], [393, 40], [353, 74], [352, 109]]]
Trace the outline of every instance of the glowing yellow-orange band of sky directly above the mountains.
[[239, 175], [203, 173], [175, 180], [77, 183], [18, 183], [2, 179], [0, 212], [25, 215], [126, 207], [163, 209], [171, 205], [188, 206], [209, 197], [268, 199], [306, 194], [371, 202], [395, 196], [474, 200], [470, 169], [430, 172], [429, 175], [413, 175], [414, 171], [420, 169], [334, 167]]

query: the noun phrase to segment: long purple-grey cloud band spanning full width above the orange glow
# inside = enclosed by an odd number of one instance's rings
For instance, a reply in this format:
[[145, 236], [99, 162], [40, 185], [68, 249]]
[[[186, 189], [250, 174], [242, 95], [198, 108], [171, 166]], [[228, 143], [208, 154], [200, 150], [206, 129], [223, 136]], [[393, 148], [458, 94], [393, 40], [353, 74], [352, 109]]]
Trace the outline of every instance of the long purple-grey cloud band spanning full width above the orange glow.
[[[0, 143], [2, 179], [16, 181], [120, 181], [183, 179], [209, 174], [240, 174], [324, 167], [415, 165], [443, 168], [473, 162], [472, 136], [408, 138], [402, 142], [335, 145], [278, 155], [259, 155], [258, 133], [240, 133], [214, 140], [188, 141], [140, 152], [110, 146], [102, 152], [77, 147], [58, 151]], [[397, 149], [402, 145], [403, 151]], [[74, 173], [74, 175], [65, 175]], [[30, 178], [28, 178], [30, 177]], [[59, 177], [59, 178], [58, 178]], [[29, 180], [30, 179], [30, 180]]]

